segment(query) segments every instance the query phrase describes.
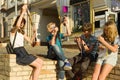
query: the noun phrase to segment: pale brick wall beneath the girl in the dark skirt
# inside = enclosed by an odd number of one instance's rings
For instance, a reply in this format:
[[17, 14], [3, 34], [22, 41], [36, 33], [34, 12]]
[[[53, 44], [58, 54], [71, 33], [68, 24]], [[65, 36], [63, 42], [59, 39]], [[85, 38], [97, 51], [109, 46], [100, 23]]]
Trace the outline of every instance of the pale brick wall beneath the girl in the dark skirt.
[[[16, 64], [14, 54], [0, 54], [0, 80], [28, 80], [32, 70], [29, 66]], [[56, 61], [44, 59], [39, 80], [56, 80]]]

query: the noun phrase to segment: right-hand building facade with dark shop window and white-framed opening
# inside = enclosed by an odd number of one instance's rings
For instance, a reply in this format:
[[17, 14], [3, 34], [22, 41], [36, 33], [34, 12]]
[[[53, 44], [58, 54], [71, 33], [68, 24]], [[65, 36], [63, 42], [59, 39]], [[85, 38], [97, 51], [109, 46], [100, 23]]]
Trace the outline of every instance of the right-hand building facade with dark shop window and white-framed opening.
[[70, 0], [72, 18], [70, 22], [73, 30], [79, 31], [86, 22], [93, 24], [93, 32], [109, 19], [118, 23], [119, 2], [119, 0]]

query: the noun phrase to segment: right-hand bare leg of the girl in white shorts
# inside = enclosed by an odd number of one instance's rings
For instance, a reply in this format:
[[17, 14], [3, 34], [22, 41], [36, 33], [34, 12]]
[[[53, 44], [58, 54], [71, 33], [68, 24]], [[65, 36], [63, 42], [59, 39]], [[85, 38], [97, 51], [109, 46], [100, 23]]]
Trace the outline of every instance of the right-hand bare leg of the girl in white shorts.
[[105, 80], [107, 75], [110, 73], [110, 71], [113, 69], [113, 66], [110, 64], [104, 64], [101, 73], [98, 77], [98, 80]]

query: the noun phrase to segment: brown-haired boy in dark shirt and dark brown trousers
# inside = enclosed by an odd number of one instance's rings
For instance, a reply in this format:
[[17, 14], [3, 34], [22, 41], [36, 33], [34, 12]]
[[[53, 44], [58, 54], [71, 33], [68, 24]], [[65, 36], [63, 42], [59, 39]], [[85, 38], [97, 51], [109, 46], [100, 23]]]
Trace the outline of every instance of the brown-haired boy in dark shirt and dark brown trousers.
[[[70, 80], [82, 80], [83, 74], [87, 70], [92, 61], [97, 58], [98, 41], [92, 33], [92, 24], [86, 23], [83, 25], [83, 34], [80, 37], [75, 38], [75, 42], [80, 50], [80, 53], [69, 59], [69, 62], [73, 66], [72, 71], [68, 71]], [[74, 70], [74, 65], [79, 64], [79, 70]]]

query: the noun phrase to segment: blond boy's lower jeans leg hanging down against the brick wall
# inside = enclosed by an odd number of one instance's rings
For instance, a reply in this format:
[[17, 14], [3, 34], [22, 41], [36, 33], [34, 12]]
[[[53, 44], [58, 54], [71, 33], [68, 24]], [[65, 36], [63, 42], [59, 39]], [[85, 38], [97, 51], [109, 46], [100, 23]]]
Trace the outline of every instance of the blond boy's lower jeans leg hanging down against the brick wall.
[[62, 60], [58, 60], [58, 66], [59, 66], [58, 79], [64, 79], [65, 76], [65, 71], [63, 70], [64, 62]]

